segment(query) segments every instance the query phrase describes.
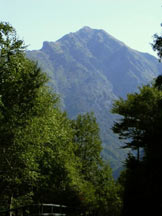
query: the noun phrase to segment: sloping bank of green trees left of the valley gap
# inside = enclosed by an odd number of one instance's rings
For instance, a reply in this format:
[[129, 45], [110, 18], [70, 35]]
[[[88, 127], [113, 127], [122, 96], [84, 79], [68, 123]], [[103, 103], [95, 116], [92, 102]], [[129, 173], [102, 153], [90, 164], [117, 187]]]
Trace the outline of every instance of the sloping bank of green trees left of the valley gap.
[[95, 116], [70, 120], [25, 49], [15, 29], [1, 22], [0, 211], [58, 203], [119, 215], [120, 187], [101, 158]]

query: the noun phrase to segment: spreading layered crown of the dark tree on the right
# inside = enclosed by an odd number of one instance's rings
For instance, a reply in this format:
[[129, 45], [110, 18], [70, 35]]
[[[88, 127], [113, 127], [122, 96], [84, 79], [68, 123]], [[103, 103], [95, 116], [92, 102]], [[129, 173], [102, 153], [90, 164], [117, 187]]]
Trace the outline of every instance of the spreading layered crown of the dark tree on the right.
[[[150, 137], [155, 132], [155, 125], [160, 124], [161, 91], [151, 86], [143, 86], [140, 93], [128, 94], [127, 100], [119, 99], [113, 106], [112, 112], [123, 115], [120, 122], [116, 122], [113, 131], [120, 138], [128, 139], [127, 148], [147, 149]], [[149, 126], [149, 127], [148, 127]], [[155, 137], [154, 137], [155, 138]]]

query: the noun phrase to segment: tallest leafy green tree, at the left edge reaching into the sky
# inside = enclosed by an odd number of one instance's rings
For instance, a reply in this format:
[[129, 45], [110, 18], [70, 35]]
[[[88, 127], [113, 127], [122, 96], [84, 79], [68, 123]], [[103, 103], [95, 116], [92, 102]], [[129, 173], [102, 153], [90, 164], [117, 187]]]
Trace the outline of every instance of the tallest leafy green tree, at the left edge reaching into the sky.
[[45, 74], [25, 57], [23, 44], [10, 24], [0, 23], [0, 188], [6, 208], [14, 197], [31, 194], [47, 137], [42, 115], [50, 116], [57, 101], [45, 86]]

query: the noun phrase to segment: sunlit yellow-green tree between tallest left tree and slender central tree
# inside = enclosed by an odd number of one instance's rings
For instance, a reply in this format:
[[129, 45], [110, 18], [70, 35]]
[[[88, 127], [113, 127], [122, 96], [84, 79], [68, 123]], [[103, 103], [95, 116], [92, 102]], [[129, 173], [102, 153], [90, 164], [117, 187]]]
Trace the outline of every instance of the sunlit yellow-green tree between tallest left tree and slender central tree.
[[76, 201], [77, 191], [81, 190], [71, 123], [59, 109], [53, 109], [51, 118], [46, 119], [48, 139], [44, 140], [45, 145], [38, 158], [40, 178], [34, 188], [34, 200], [70, 205], [70, 202]]

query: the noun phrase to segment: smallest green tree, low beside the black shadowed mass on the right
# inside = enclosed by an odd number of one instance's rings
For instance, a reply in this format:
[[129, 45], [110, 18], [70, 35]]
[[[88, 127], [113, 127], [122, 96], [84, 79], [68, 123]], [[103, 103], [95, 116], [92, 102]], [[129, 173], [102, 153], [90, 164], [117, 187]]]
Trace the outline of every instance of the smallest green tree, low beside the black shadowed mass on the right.
[[112, 177], [112, 170], [108, 163], [98, 169], [95, 186], [95, 206], [94, 210], [98, 216], [111, 215], [119, 216], [122, 202], [120, 198], [120, 187]]

